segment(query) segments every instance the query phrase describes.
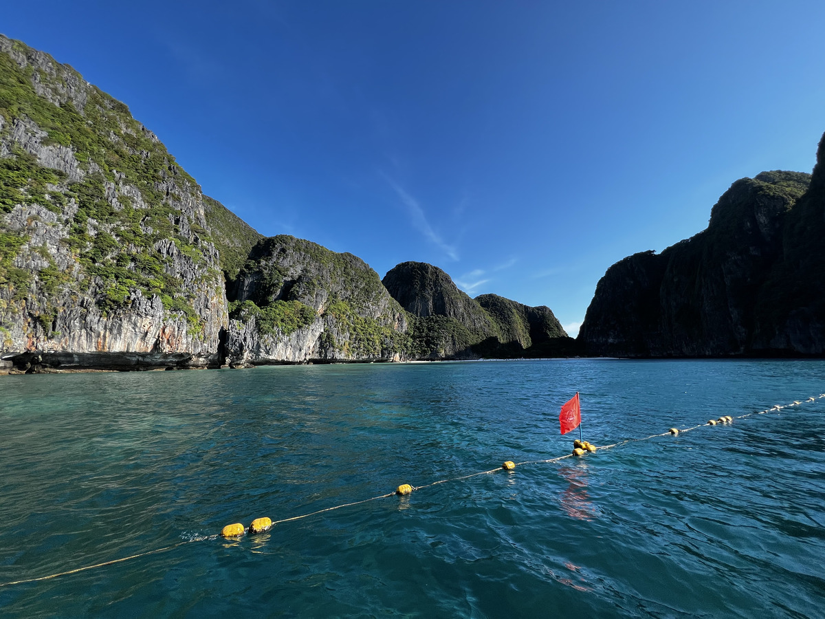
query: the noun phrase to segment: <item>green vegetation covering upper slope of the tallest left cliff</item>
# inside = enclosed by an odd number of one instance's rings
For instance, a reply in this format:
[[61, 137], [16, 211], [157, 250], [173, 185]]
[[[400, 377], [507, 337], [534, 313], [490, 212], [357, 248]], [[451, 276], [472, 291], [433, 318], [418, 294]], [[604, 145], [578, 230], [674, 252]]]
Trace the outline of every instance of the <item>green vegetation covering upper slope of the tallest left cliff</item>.
[[[11, 47], [15, 58], [0, 53], [0, 139], [11, 145], [0, 158], [0, 213], [40, 205], [59, 221], [65, 218], [63, 242], [82, 272], [99, 282], [95, 302], [101, 309], [116, 309], [132, 292], [142, 291], [174, 299], [164, 305], [193, 319], [191, 291], [166, 274], [167, 257], [157, 245], [174, 239], [187, 258], [204, 262], [189, 231], [206, 242], [210, 234], [196, 220], [181, 224], [177, 208], [199, 191], [194, 179], [123, 103], [85, 83], [68, 65], [19, 41]], [[52, 165], [74, 166], [72, 177], [45, 167], [13, 142], [12, 128], [18, 125], [34, 136], [26, 149], [53, 156]], [[0, 232], [11, 234], [2, 220]], [[4, 267], [0, 279], [9, 276]], [[16, 280], [21, 284], [19, 276]], [[62, 283], [76, 293], [89, 291], [82, 277]]]

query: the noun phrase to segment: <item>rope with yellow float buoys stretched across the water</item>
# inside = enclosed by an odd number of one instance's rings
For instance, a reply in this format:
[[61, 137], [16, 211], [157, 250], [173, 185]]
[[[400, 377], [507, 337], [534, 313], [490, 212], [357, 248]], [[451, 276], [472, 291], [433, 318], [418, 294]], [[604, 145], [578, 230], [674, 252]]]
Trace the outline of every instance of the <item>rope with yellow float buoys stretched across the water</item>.
[[140, 557], [144, 557], [144, 556], [148, 556], [148, 555], [158, 555], [162, 552], [167, 552], [168, 550], [174, 550], [175, 548], [179, 548], [181, 546], [186, 546], [186, 544], [191, 544], [191, 543], [196, 542], [196, 541], [215, 540], [220, 536], [223, 536], [224, 538], [227, 538], [227, 539], [230, 539], [230, 540], [231, 539], [237, 539], [238, 537], [246, 535], [247, 533], [254, 535], [254, 534], [257, 534], [257, 533], [262, 533], [262, 532], [269, 531], [271, 529], [271, 527], [275, 527], [278, 524], [284, 524], [285, 522], [294, 522], [296, 520], [302, 520], [304, 518], [317, 516], [320, 513], [332, 512], [336, 509], [348, 508], [348, 507], [352, 507], [354, 505], [361, 505], [361, 503], [369, 503], [370, 501], [375, 501], [377, 499], [389, 499], [389, 497], [396, 496], [396, 495], [406, 496], [408, 494], [412, 494], [414, 491], [422, 490], [422, 489], [425, 489], [425, 488], [431, 488], [432, 486], [436, 486], [438, 484], [446, 484], [447, 482], [450, 482], [450, 481], [469, 480], [471, 477], [476, 477], [478, 475], [492, 475], [493, 473], [497, 473], [497, 472], [502, 471], [502, 470], [512, 471], [512, 470], [515, 470], [517, 466], [522, 466], [522, 465], [550, 464], [550, 463], [553, 463], [553, 462], [559, 462], [559, 461], [562, 461], [562, 460], [566, 460], [567, 458], [581, 457], [581, 456], [584, 456], [585, 454], [587, 454], [588, 452], [603, 451], [603, 450], [606, 450], [606, 449], [614, 449], [615, 447], [622, 447], [622, 446], [627, 445], [628, 443], [631, 443], [631, 442], [648, 441], [652, 438], [658, 438], [658, 437], [667, 437], [667, 436], [674, 436], [675, 437], [675, 436], [678, 436], [680, 434], [684, 434], [685, 432], [691, 432], [692, 430], [695, 430], [697, 428], [707, 428], [709, 426], [726, 425], [726, 424], [729, 424], [729, 423], [733, 423], [734, 419], [744, 419], [744, 418], [752, 417], [754, 415], [762, 415], [762, 414], [766, 414], [766, 413], [779, 413], [780, 410], [789, 409], [789, 408], [794, 407], [794, 406], [801, 406], [802, 404], [808, 404], [809, 402], [815, 402], [817, 399], [823, 399], [823, 398], [825, 398], [825, 394], [820, 394], [818, 396], [811, 396], [810, 398], [804, 399], [804, 400], [797, 399], [797, 400], [794, 400], [793, 402], [791, 402], [790, 404], [783, 404], [783, 405], [775, 404], [774, 406], [771, 406], [770, 409], [760, 410], [760, 411], [757, 411], [755, 413], [745, 413], [745, 414], [742, 414], [742, 415], [738, 415], [738, 417], [731, 417], [730, 415], [725, 415], [725, 416], [720, 417], [718, 419], [709, 419], [708, 423], [700, 423], [698, 425], [693, 426], [692, 428], [670, 428], [667, 432], [662, 432], [661, 434], [651, 434], [649, 437], [641, 437], [641, 438], [628, 438], [628, 439], [625, 439], [624, 441], [615, 442], [612, 445], [602, 445], [600, 447], [596, 447], [595, 445], [591, 445], [587, 441], [578, 441], [578, 440], [576, 440], [576, 441], [573, 442], [573, 445], [574, 445], [573, 452], [568, 453], [565, 456], [557, 456], [557, 457], [549, 458], [549, 459], [546, 459], [546, 460], [528, 460], [528, 461], [524, 461], [524, 462], [513, 462], [513, 461], [508, 460], [508, 461], [505, 461], [501, 466], [497, 466], [494, 469], [481, 470], [481, 471], [476, 472], [476, 473], [470, 473], [469, 475], [460, 475], [458, 477], [449, 477], [445, 480], [433, 481], [430, 484], [424, 484], [424, 485], [421, 485], [421, 486], [413, 486], [411, 484], [401, 484], [393, 492], [388, 492], [386, 494], [379, 494], [378, 496], [370, 497], [369, 499], [361, 499], [360, 501], [353, 501], [351, 503], [342, 503], [340, 505], [332, 506], [331, 508], [318, 509], [314, 512], [300, 514], [299, 516], [293, 516], [293, 517], [289, 517], [289, 518], [282, 518], [281, 520], [276, 520], [276, 521], [272, 521], [268, 517], [256, 518], [255, 520], [252, 521], [252, 524], [250, 524], [249, 527], [244, 527], [243, 524], [238, 522], [238, 523], [230, 524], [230, 525], [227, 525], [226, 527], [224, 527], [223, 531], [219, 535], [198, 536], [198, 537], [195, 537], [191, 540], [179, 541], [179, 542], [177, 542], [177, 544], [172, 544], [170, 546], [164, 546], [163, 548], [156, 548], [154, 550], [146, 550], [146, 551], [141, 552], [137, 555], [130, 555], [130, 556], [126, 556], [126, 557], [121, 557], [120, 559], [113, 559], [113, 560], [110, 560], [110, 561], [104, 561], [102, 563], [96, 563], [95, 565], [86, 565], [84, 567], [80, 567], [80, 568], [76, 568], [76, 569], [68, 569], [67, 571], [58, 572], [56, 574], [49, 574], [48, 576], [40, 576], [40, 577], [37, 577], [37, 578], [31, 578], [31, 579], [12, 580], [11, 582], [0, 583], [0, 588], [10, 587], [10, 586], [16, 585], [16, 584], [37, 583], [37, 582], [40, 582], [41, 580], [50, 580], [50, 579], [59, 578], [60, 576], [68, 576], [69, 574], [78, 574], [78, 572], [84, 572], [84, 571], [87, 571], [88, 569], [97, 569], [97, 568], [101, 568], [101, 567], [106, 567], [107, 565], [115, 565], [117, 563], [124, 563], [125, 561], [129, 561], [129, 560], [133, 560], [133, 559], [139, 559]]

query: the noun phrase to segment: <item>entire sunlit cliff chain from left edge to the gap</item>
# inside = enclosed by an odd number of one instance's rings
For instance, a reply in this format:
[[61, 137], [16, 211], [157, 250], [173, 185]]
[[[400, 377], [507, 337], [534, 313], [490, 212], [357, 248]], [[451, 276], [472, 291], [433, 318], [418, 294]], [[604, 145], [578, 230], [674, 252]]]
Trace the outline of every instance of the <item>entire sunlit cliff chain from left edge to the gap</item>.
[[385, 281], [409, 311], [360, 258], [258, 234], [125, 104], [0, 35], [0, 373], [522, 356], [564, 339], [549, 309], [470, 299], [430, 265]]

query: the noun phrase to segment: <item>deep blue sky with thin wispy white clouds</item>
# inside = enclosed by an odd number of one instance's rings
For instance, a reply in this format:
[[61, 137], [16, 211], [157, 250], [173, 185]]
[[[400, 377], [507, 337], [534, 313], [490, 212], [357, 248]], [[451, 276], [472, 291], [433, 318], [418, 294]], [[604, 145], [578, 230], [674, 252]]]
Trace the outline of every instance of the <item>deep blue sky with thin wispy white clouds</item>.
[[443, 268], [575, 334], [611, 264], [810, 172], [825, 2], [14, 2], [262, 234]]

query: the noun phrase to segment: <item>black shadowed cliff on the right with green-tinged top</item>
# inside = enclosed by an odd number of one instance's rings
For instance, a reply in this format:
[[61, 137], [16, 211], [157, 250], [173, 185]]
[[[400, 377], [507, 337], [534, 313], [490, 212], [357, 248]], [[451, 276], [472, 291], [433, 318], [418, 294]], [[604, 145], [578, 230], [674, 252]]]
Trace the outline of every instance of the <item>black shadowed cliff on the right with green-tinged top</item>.
[[[816, 268], [806, 271], [800, 262], [804, 256], [808, 265], [822, 263], [821, 244], [801, 230], [823, 219], [817, 191], [800, 172], [762, 172], [734, 182], [703, 232], [660, 255], [637, 253], [608, 269], [579, 342], [589, 354], [616, 356], [822, 352], [821, 309], [805, 305], [804, 327], [797, 311], [806, 303], [799, 289], [810, 288], [813, 277], [822, 281]], [[788, 333], [790, 314], [805, 331], [804, 343], [781, 335]], [[812, 319], [820, 321], [818, 335]]]

